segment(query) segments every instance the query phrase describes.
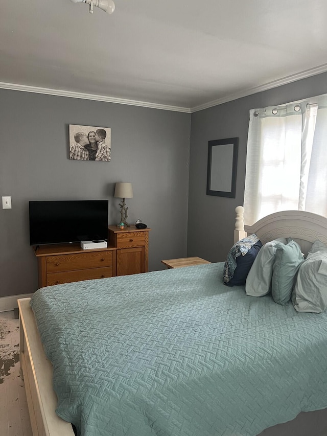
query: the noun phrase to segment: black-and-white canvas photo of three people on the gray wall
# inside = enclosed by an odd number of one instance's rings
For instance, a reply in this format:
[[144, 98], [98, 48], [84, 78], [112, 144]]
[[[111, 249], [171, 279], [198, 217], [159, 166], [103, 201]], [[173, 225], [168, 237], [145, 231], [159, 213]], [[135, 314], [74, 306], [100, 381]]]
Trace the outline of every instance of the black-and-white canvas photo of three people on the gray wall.
[[111, 160], [111, 129], [69, 124], [69, 159], [109, 162]]

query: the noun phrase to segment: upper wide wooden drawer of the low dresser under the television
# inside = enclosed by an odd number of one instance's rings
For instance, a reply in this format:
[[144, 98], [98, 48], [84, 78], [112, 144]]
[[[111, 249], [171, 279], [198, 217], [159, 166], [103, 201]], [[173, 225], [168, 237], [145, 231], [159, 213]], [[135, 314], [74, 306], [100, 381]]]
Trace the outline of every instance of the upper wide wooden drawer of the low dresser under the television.
[[[112, 251], [88, 251], [46, 257], [46, 273], [112, 266]], [[84, 279], [79, 279], [84, 280]]]

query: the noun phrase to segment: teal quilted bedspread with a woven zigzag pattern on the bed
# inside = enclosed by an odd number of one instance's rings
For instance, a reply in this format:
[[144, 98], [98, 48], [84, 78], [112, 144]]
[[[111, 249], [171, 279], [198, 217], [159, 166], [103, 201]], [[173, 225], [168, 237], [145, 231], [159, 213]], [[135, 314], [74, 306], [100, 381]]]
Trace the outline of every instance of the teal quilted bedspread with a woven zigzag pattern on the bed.
[[254, 436], [327, 407], [327, 313], [224, 286], [223, 265], [38, 290], [57, 414], [81, 436]]

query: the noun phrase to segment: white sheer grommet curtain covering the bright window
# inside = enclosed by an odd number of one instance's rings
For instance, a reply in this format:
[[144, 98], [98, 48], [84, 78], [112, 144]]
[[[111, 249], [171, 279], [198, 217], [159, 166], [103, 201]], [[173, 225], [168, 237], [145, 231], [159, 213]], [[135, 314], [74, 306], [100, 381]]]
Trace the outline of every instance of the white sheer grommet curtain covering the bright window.
[[250, 111], [244, 218], [305, 210], [327, 216], [327, 95]]

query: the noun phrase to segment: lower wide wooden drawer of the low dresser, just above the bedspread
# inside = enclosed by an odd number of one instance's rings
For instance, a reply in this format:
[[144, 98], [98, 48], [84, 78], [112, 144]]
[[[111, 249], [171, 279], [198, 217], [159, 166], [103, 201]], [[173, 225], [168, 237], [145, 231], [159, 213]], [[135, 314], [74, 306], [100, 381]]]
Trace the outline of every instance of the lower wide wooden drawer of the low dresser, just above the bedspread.
[[112, 266], [46, 274], [46, 286], [112, 277]]

